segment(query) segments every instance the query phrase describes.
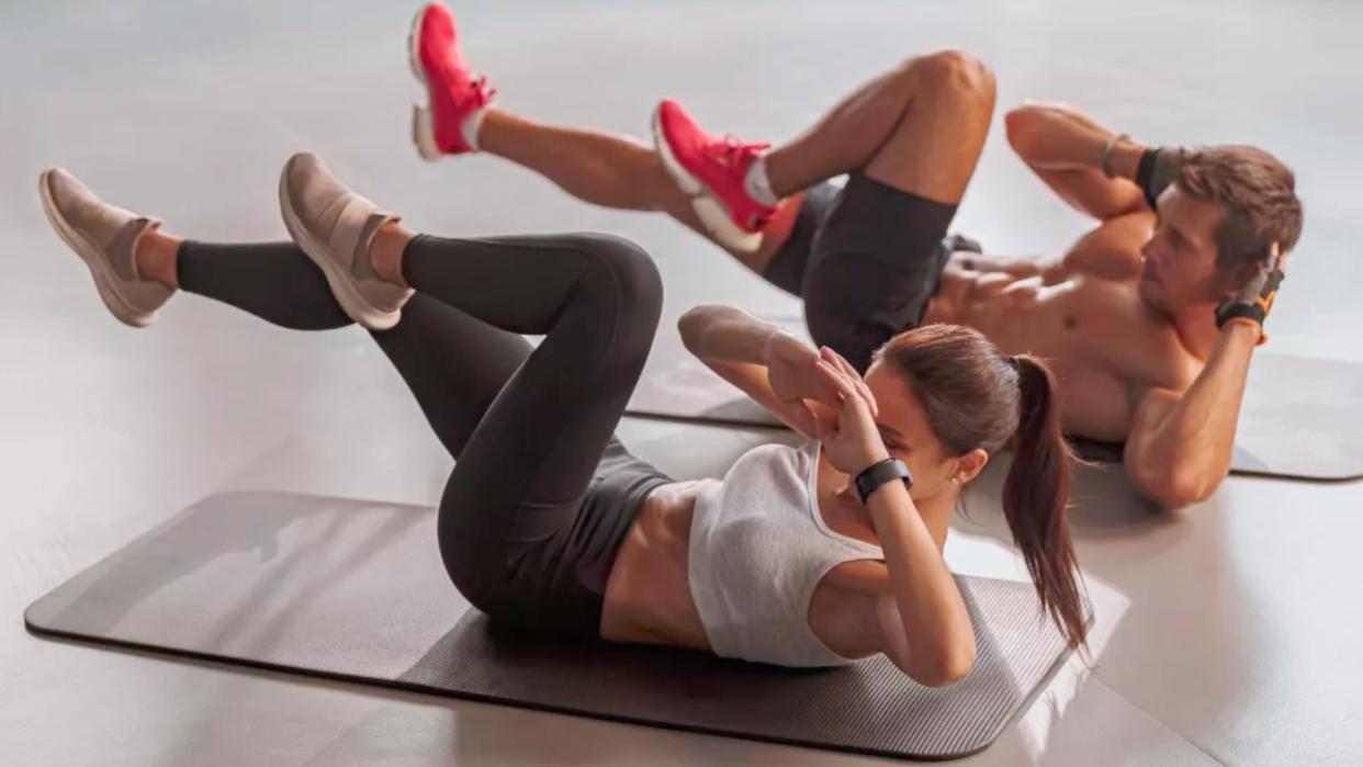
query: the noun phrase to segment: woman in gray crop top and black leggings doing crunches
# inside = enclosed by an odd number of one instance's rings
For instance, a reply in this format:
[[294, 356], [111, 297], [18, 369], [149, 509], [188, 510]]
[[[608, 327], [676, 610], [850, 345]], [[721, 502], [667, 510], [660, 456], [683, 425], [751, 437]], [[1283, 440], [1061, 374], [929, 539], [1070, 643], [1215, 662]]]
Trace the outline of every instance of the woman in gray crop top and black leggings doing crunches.
[[[901, 334], [863, 380], [735, 309], [694, 309], [691, 347], [816, 439], [758, 447], [722, 481], [673, 482], [612, 435], [661, 305], [653, 262], [623, 240], [418, 236], [308, 154], [279, 183], [297, 245], [183, 240], [60, 169], [40, 189], [131, 326], [184, 289], [284, 327], [369, 328], [457, 460], [440, 553], [497, 621], [791, 666], [883, 653], [950, 684], [975, 640], [942, 560], [947, 519], [1015, 441], [1009, 522], [1051, 614], [1084, 640], [1050, 373], [975, 331]], [[519, 334], [545, 338], [532, 350]]]

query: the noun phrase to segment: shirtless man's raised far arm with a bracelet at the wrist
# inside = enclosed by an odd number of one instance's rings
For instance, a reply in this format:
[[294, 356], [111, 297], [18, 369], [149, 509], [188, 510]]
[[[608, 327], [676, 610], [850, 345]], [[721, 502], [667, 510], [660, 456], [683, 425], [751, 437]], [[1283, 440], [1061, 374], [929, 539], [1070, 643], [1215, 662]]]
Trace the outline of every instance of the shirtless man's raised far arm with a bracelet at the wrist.
[[[1142, 144], [1122, 138], [1092, 117], [1066, 104], [1028, 104], [1005, 117], [1009, 143], [1018, 157], [1081, 213], [1107, 221], [1146, 210], [1145, 196], [1135, 184]], [[1104, 148], [1108, 170], [1103, 170]]]

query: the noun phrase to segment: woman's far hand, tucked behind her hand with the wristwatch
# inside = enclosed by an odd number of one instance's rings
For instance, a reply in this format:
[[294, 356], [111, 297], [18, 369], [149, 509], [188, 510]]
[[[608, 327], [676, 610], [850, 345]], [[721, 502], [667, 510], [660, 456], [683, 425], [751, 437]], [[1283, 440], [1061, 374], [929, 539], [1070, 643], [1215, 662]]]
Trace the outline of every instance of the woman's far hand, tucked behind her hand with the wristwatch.
[[767, 381], [796, 421], [796, 426], [808, 437], [818, 436], [819, 421], [834, 422], [842, 407], [837, 387], [819, 373], [816, 365], [821, 360], [827, 360], [840, 371], [849, 373], [855, 379], [859, 395], [872, 413], [878, 411], [871, 390], [840, 354], [827, 347], [822, 351], [815, 350], [786, 332], [773, 334], [765, 353]]

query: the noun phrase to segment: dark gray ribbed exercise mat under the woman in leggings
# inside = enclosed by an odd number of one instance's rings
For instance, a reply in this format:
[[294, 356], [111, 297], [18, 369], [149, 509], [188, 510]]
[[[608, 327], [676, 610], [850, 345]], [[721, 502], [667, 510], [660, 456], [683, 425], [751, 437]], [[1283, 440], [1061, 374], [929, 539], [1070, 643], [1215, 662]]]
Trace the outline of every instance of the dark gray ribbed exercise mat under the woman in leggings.
[[823, 670], [491, 629], [450, 584], [435, 514], [292, 493], [210, 496], [25, 613], [37, 633], [642, 725], [897, 757], [987, 747], [1069, 657], [1030, 584], [961, 578], [975, 672]]

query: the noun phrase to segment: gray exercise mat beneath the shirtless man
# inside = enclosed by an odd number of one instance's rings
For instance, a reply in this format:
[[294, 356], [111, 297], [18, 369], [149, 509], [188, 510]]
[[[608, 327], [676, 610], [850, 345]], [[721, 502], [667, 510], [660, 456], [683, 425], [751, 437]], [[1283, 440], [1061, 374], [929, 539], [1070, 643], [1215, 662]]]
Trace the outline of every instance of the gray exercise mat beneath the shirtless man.
[[[797, 317], [766, 317], [808, 338]], [[630, 401], [631, 416], [739, 426], [782, 426], [713, 373], [664, 322]], [[1082, 445], [1099, 460], [1120, 460], [1120, 445]], [[1257, 351], [1240, 406], [1231, 471], [1298, 480], [1363, 477], [1363, 364]]]

